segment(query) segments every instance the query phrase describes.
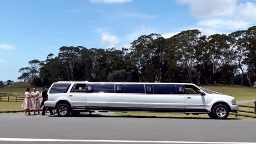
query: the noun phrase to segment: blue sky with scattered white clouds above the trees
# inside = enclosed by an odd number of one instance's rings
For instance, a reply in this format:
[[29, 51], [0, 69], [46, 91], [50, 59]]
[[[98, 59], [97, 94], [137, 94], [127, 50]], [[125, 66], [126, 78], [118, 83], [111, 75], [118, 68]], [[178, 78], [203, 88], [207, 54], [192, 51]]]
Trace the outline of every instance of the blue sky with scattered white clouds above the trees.
[[0, 80], [61, 46], [129, 47], [142, 34], [228, 34], [256, 23], [256, 2], [235, 0], [0, 1]]

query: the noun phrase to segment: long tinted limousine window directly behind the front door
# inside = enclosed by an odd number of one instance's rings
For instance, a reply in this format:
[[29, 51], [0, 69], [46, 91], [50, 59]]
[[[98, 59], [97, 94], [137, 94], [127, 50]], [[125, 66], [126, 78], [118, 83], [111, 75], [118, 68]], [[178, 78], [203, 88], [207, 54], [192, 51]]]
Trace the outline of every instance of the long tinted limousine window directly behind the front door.
[[176, 94], [175, 85], [154, 85], [154, 93], [156, 94]]

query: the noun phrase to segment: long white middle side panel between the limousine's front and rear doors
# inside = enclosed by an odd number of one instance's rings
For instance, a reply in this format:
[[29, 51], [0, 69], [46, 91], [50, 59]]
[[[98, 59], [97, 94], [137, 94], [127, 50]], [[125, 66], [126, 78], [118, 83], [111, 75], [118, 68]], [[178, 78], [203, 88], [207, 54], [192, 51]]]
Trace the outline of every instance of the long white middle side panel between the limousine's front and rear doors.
[[87, 93], [86, 106], [184, 109], [181, 95]]

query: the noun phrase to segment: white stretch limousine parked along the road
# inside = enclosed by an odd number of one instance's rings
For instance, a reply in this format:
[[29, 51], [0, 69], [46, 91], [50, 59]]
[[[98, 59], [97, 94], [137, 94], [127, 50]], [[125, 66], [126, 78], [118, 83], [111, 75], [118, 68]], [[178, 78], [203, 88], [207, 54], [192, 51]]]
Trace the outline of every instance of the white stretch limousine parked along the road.
[[236, 99], [213, 94], [193, 83], [60, 81], [53, 83], [45, 106], [59, 116], [91, 111], [208, 113], [224, 119], [237, 112]]

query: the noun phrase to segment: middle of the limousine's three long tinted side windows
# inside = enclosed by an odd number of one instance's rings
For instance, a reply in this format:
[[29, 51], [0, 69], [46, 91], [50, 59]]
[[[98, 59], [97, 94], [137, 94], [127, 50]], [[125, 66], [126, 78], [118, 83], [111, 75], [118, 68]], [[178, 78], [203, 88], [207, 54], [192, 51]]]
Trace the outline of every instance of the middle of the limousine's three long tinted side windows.
[[144, 85], [123, 85], [123, 93], [145, 93]]

